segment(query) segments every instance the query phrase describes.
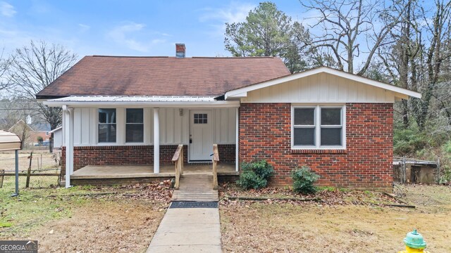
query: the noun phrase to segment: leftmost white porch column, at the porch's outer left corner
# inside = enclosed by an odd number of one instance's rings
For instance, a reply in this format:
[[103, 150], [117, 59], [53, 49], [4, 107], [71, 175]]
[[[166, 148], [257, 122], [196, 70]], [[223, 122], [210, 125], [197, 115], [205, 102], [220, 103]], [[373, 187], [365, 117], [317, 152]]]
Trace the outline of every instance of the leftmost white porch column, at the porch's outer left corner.
[[63, 105], [64, 144], [66, 145], [66, 188], [70, 188], [70, 175], [73, 174], [73, 108]]

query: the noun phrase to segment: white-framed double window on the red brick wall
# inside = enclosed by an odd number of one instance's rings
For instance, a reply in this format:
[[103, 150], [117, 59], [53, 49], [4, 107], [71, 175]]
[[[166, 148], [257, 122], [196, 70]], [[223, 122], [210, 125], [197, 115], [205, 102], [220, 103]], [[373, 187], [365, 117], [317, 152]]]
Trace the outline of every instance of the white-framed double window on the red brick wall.
[[344, 107], [293, 107], [293, 148], [343, 148]]

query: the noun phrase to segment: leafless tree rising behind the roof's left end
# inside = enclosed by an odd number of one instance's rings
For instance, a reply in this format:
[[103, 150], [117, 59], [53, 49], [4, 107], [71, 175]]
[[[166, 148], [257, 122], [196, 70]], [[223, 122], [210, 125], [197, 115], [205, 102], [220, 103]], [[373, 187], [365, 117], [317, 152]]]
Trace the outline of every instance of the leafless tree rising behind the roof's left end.
[[[16, 49], [11, 63], [10, 78], [16, 85], [16, 92], [21, 98], [35, 101], [42, 117], [49, 122], [51, 129], [61, 125], [61, 108], [49, 108], [37, 103], [36, 94], [54, 82], [66, 72], [78, 56], [61, 45], [30, 41], [29, 46]], [[51, 136], [53, 141], [53, 136]], [[50, 143], [50, 150], [52, 143]]]

